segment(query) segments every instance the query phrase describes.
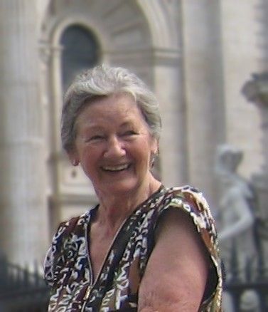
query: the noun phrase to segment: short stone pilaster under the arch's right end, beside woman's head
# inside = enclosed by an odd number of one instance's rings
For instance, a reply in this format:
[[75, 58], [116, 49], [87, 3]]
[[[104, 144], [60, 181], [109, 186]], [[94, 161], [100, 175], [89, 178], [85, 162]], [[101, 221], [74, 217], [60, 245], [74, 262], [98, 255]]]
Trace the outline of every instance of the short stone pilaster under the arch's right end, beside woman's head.
[[[161, 178], [165, 185], [188, 184], [186, 110], [179, 51], [154, 51], [154, 83], [165, 131], [161, 133]], [[164, 90], [164, 92], [163, 92]]]

